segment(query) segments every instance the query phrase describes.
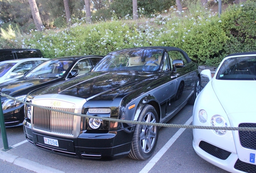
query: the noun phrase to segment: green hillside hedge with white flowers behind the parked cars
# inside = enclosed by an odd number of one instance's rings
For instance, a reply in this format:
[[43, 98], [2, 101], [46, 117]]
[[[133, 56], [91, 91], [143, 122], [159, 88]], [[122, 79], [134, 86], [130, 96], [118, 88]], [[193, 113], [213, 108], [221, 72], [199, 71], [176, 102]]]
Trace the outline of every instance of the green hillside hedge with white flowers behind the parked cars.
[[[199, 4], [179, 12], [174, 7], [164, 14], [124, 19], [112, 12], [109, 21], [86, 24], [77, 19], [69, 28], [27, 34], [2, 30], [1, 48], [39, 48], [44, 57], [75, 54], [105, 55], [110, 51], [140, 46], [175, 46], [185, 50], [198, 64], [217, 66], [227, 54], [256, 51], [256, 3], [233, 4], [218, 17]], [[7, 32], [10, 32], [9, 34]], [[9, 36], [9, 37], [8, 37]]]

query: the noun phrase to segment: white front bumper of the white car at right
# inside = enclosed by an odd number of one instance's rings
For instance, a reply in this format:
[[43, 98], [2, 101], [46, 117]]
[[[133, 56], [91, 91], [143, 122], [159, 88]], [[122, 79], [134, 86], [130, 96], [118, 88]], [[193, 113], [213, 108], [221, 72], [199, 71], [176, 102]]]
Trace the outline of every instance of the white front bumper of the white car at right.
[[[203, 130], [207, 131], [207, 130]], [[251, 160], [251, 155], [256, 155], [256, 150], [242, 148], [239, 144], [235, 145], [235, 149], [230, 145], [226, 145], [227, 148], [219, 148], [207, 138], [202, 139], [204, 135], [202, 129], [193, 129], [193, 148], [194, 151], [202, 157], [202, 159], [232, 173], [256, 173], [256, 160]], [[208, 132], [209, 135], [209, 132]], [[215, 139], [216, 141], [216, 139]], [[202, 147], [204, 143], [204, 147]], [[206, 147], [205, 147], [206, 146]], [[239, 149], [237, 147], [240, 147]], [[246, 157], [242, 157], [239, 153]]]

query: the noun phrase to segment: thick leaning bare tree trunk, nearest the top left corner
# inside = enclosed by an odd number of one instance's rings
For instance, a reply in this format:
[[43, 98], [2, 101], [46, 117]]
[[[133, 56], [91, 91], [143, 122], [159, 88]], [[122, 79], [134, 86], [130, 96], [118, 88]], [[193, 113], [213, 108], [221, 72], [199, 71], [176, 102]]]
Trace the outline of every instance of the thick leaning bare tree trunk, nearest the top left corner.
[[29, 0], [29, 5], [31, 8], [31, 13], [33, 16], [33, 20], [35, 22], [35, 27], [37, 28], [37, 30], [42, 31], [43, 30], [43, 22], [40, 18], [39, 15], [39, 11], [37, 8], [37, 3], [35, 2], [35, 0]]

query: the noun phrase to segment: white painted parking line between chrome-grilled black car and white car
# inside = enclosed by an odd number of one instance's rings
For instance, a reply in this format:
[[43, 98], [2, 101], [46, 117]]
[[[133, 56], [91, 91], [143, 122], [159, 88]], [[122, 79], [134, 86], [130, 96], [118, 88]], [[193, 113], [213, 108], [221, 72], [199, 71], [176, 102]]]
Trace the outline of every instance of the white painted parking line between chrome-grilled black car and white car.
[[[190, 117], [184, 125], [190, 125], [192, 123], [193, 117]], [[185, 131], [185, 128], [180, 128], [174, 135], [169, 139], [169, 141], [161, 148], [158, 153], [149, 161], [149, 163], [140, 171], [140, 173], [148, 173], [151, 168], [161, 159], [163, 154], [171, 147], [171, 145], [180, 137], [180, 135]]]

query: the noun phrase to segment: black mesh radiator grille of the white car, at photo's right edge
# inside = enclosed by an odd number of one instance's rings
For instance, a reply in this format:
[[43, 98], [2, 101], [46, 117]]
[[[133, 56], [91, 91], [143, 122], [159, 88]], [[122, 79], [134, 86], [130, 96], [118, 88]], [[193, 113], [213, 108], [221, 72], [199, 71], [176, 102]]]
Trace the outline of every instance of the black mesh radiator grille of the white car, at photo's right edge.
[[[256, 127], [255, 123], [241, 123], [238, 127]], [[242, 147], [256, 150], [256, 132], [255, 131], [239, 131], [239, 140]]]

